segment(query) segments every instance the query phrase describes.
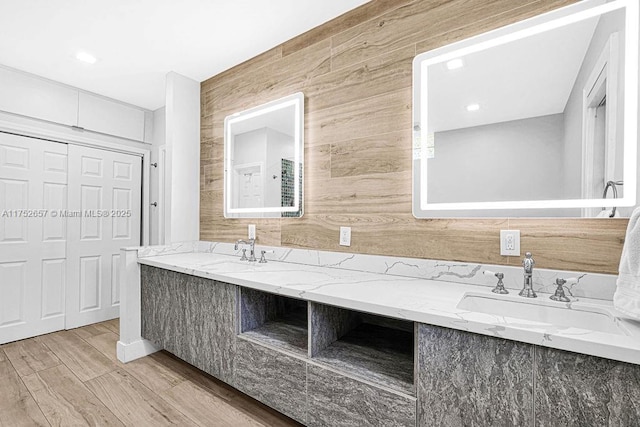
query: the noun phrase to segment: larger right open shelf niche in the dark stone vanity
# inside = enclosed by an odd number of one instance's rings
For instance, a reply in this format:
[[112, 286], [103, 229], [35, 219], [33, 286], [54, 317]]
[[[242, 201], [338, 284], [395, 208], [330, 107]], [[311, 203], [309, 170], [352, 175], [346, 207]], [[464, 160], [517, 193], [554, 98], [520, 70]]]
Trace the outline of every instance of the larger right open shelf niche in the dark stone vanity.
[[314, 361], [415, 395], [413, 322], [310, 304]]

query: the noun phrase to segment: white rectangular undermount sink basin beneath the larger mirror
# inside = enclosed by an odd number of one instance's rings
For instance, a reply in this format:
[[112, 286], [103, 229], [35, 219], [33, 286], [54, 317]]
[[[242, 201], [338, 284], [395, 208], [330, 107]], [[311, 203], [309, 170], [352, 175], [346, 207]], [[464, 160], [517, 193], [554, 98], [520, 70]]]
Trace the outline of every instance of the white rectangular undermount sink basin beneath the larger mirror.
[[[542, 297], [544, 298], [544, 297]], [[606, 334], [628, 335], [613, 311], [580, 303], [558, 303], [510, 295], [465, 294], [457, 308], [493, 316], [520, 319], [559, 328], [579, 328]]]

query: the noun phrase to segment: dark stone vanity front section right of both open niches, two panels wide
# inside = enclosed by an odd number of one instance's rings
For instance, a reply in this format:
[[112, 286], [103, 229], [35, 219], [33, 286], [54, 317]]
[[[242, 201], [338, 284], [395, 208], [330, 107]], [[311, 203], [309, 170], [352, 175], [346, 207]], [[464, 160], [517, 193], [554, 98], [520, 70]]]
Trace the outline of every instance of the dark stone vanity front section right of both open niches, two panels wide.
[[421, 324], [420, 426], [636, 426], [640, 366]]

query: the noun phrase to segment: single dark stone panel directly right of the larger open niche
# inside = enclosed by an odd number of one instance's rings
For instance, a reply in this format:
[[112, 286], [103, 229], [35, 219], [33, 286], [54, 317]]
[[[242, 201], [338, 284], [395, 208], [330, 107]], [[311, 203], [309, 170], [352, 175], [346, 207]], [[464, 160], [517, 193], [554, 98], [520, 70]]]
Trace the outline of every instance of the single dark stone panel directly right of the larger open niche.
[[420, 324], [418, 425], [532, 426], [533, 346]]

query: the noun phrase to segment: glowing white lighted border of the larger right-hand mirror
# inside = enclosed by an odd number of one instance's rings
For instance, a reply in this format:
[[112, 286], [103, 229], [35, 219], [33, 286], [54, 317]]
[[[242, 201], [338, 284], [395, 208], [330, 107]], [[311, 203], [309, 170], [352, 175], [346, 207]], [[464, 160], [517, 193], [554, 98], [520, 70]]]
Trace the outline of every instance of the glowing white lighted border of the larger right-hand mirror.
[[[625, 9], [625, 63], [624, 63], [624, 195], [619, 199], [525, 200], [501, 202], [427, 203], [427, 162], [429, 147], [427, 129], [427, 89], [421, 83], [428, 81], [429, 65], [443, 63], [464, 55], [519, 40], [544, 31], [589, 19], [607, 12]], [[416, 218], [469, 217], [472, 212], [484, 211], [486, 217], [518, 216], [523, 209], [571, 209], [596, 207], [629, 207], [636, 204], [637, 191], [637, 135], [638, 135], [638, 1], [586, 0], [551, 12], [529, 18], [478, 36], [455, 42], [422, 54], [413, 61], [413, 182], [412, 206]], [[424, 137], [422, 133], [424, 132]], [[486, 215], [489, 213], [489, 215]], [[457, 215], [456, 215], [457, 214]], [[479, 215], [478, 215], [479, 216]], [[552, 216], [552, 215], [545, 215]], [[539, 217], [542, 218], [543, 216]], [[577, 218], [577, 217], [574, 217]]]

